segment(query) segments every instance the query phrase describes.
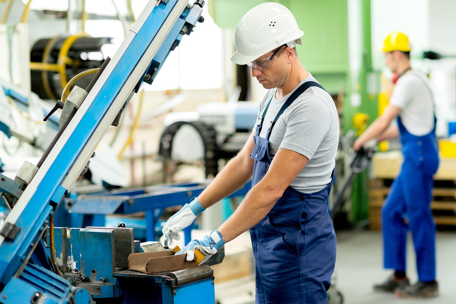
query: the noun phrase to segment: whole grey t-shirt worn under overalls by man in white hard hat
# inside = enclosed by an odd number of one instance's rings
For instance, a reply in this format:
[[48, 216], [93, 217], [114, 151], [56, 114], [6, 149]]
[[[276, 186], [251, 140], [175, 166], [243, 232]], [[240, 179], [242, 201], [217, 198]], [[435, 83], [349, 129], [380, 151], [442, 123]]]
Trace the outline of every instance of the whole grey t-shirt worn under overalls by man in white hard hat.
[[[276, 99], [276, 89], [270, 89], [260, 103], [261, 117], [272, 97], [264, 118], [260, 136], [265, 137], [269, 122], [275, 118], [285, 100], [306, 81], [315, 81], [309, 76], [302, 80], [284, 98]], [[257, 120], [258, 123], [258, 120]], [[256, 124], [254, 131], [256, 129]], [[271, 158], [279, 148], [289, 149], [306, 156], [309, 162], [291, 183], [297, 191], [312, 193], [331, 182], [339, 142], [339, 120], [331, 96], [318, 87], [308, 88], [285, 110], [272, 128], [269, 137]]]

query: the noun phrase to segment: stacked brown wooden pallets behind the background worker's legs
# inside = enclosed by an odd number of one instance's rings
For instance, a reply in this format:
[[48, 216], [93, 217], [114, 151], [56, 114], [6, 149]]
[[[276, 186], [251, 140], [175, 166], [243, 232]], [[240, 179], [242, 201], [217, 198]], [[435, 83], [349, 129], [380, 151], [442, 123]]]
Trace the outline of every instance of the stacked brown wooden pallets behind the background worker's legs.
[[[369, 180], [369, 221], [371, 230], [381, 228], [381, 207], [388, 195], [393, 180]], [[456, 181], [435, 180], [432, 191], [431, 210], [435, 224], [456, 226]]]

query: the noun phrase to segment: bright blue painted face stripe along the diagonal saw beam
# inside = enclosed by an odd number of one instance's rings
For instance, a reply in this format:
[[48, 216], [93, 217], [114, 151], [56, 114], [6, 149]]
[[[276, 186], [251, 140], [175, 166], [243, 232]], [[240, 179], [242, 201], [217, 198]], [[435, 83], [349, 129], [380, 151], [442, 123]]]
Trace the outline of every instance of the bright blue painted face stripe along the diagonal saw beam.
[[44, 226], [52, 212], [49, 202], [54, 192], [77, 160], [141, 57], [144, 56], [176, 2], [177, 0], [169, 0], [167, 5], [161, 4], [152, 10], [37, 186], [34, 195], [16, 221], [16, 226], [21, 228], [21, 232], [14, 242], [5, 241], [0, 247], [1, 283], [8, 282], [31, 250], [30, 244], [35, 242], [40, 228]]

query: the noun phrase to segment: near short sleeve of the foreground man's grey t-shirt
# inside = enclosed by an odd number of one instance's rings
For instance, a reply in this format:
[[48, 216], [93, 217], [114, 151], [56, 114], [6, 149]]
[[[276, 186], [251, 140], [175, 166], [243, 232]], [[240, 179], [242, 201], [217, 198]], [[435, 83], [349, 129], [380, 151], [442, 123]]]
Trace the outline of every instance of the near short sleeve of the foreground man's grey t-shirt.
[[306, 102], [287, 117], [287, 128], [279, 148], [289, 149], [311, 160], [332, 126], [332, 112], [320, 98]]

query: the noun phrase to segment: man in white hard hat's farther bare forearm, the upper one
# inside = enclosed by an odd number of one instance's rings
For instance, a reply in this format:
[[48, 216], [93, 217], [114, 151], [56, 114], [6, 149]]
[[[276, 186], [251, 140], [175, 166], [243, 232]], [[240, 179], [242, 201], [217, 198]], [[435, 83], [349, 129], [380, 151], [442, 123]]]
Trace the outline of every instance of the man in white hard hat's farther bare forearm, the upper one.
[[245, 162], [242, 156], [238, 155], [218, 173], [212, 183], [198, 196], [198, 201], [204, 208], [212, 206], [249, 181], [253, 173], [253, 164]]

